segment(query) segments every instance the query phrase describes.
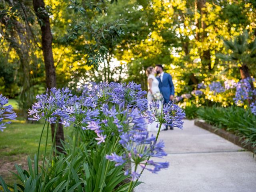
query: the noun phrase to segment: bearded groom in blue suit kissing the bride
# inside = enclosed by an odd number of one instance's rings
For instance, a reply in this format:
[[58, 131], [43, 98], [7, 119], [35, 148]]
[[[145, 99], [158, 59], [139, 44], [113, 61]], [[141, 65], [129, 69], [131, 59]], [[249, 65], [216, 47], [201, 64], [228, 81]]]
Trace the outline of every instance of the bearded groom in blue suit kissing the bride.
[[[159, 89], [164, 97], [164, 104], [166, 104], [174, 98], [174, 85], [172, 83], [172, 76], [168, 73], [165, 73], [163, 66], [160, 64], [156, 65], [155, 70], [158, 74], [156, 78], [159, 81]], [[171, 129], [173, 128], [171, 127]], [[166, 127], [164, 130], [168, 130], [168, 128]]]

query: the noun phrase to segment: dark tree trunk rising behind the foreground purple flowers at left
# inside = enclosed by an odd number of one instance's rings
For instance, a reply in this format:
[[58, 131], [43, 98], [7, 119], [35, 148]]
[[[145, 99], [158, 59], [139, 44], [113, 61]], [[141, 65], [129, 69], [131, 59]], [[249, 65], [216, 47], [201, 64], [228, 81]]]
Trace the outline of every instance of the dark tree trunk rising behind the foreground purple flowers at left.
[[[44, 66], [46, 73], [46, 86], [47, 88], [56, 87], [56, 73], [54, 67], [54, 60], [52, 55], [52, 32], [50, 28], [50, 19], [48, 12], [45, 9], [44, 0], [33, 0], [34, 11], [38, 17], [41, 34], [42, 34], [42, 50], [44, 55]], [[51, 125], [52, 139], [54, 136], [55, 124]], [[62, 124], [58, 124], [56, 132], [56, 146], [59, 152], [63, 152], [61, 140], [64, 140], [64, 131]]]

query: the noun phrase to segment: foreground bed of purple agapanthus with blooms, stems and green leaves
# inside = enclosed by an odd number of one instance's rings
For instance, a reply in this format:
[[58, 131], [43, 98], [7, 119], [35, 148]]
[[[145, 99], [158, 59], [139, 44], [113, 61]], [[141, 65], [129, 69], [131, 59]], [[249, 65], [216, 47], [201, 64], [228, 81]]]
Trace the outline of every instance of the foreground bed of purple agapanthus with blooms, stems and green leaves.
[[[30, 120], [45, 120], [46, 132], [42, 166], [39, 151], [34, 161], [28, 158], [29, 170], [16, 165], [22, 185], [11, 187], [22, 191], [131, 192], [140, 182], [143, 171], [152, 173], [168, 167], [168, 162], [153, 161], [151, 157], [166, 156], [164, 142], [157, 141], [162, 125], [182, 128], [185, 114], [174, 103], [160, 106], [152, 102], [150, 110], [140, 85], [102, 83], [92, 84], [82, 96], [72, 95], [68, 88], [47, 90], [36, 96], [29, 110]], [[147, 122], [158, 122], [156, 136], [149, 135]], [[70, 140], [63, 142], [63, 154], [57, 153], [50, 142], [50, 156], [46, 156], [50, 124], [61, 123], [72, 129]], [[126, 164], [132, 164], [124, 169]], [[139, 167], [142, 171], [138, 171]], [[124, 182], [130, 178], [130, 182]], [[0, 183], [9, 191], [4, 180]]]

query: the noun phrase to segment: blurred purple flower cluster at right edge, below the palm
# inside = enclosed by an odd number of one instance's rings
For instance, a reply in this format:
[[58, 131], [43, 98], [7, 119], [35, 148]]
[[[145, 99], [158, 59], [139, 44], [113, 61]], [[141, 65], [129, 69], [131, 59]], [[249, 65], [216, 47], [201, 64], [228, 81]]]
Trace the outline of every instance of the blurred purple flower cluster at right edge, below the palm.
[[256, 96], [256, 90], [252, 89], [253, 78], [240, 80], [236, 85], [236, 95], [234, 101], [236, 104], [243, 104], [245, 100], [252, 100]]

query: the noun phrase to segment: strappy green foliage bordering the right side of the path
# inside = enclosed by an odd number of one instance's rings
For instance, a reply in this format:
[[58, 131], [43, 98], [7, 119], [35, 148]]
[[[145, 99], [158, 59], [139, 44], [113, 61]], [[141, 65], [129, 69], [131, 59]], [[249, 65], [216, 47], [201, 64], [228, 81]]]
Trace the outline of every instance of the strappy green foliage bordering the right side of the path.
[[197, 111], [199, 118], [232, 132], [256, 146], [256, 116], [250, 110], [238, 106], [204, 107]]

